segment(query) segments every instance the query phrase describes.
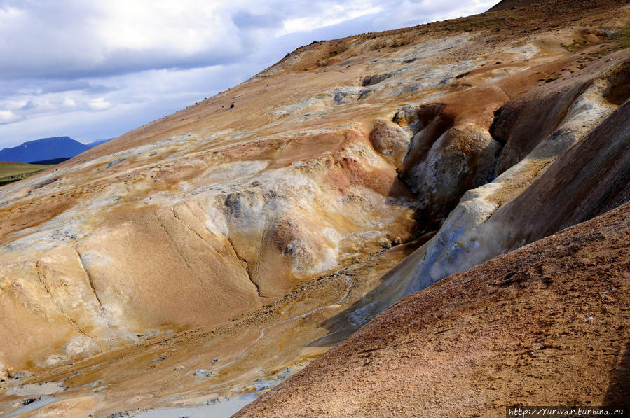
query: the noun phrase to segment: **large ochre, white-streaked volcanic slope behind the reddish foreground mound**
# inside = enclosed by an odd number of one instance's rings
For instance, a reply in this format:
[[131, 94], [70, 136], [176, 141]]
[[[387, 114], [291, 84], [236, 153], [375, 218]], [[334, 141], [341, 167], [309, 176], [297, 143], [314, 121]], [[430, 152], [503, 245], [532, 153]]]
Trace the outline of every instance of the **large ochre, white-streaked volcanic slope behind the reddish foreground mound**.
[[628, 2], [512, 7], [313, 43], [0, 188], [0, 411], [262, 393], [626, 202]]

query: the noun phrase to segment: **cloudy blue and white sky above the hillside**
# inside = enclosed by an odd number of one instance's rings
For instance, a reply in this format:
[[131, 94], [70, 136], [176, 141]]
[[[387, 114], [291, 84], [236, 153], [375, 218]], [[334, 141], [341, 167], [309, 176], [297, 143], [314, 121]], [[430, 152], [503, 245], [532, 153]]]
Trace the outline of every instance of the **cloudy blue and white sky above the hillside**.
[[312, 41], [481, 13], [498, 0], [0, 0], [0, 148], [117, 137]]

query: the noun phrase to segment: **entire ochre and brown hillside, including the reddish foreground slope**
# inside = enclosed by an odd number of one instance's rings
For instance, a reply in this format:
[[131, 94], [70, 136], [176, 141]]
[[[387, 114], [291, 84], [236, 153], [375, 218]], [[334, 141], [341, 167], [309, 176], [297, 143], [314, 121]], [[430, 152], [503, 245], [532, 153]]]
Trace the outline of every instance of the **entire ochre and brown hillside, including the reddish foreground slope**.
[[0, 188], [0, 412], [619, 400], [630, 5], [513, 7], [314, 42]]

